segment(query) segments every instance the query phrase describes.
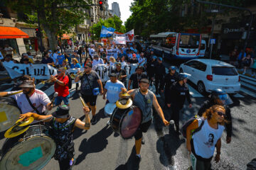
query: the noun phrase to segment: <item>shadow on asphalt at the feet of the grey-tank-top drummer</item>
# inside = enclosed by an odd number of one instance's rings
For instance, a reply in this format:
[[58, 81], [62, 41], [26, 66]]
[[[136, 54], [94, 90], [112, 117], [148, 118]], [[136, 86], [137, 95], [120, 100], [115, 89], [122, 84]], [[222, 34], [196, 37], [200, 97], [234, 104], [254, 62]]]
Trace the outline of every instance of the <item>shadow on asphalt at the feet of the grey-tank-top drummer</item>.
[[132, 152], [127, 160], [126, 164], [119, 165], [115, 170], [137, 170], [139, 169], [139, 164], [136, 162], [136, 151], [135, 145], [132, 148]]

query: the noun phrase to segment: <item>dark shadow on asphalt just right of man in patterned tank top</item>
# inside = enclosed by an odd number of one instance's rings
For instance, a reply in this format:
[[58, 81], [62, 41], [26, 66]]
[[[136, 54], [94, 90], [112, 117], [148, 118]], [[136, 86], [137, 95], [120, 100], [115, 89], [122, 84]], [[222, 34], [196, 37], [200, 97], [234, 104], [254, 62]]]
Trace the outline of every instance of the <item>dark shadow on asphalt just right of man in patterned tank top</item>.
[[[107, 137], [112, 134], [112, 129], [107, 125], [105, 128], [97, 132], [95, 135], [92, 135], [89, 139], [82, 140], [79, 151], [82, 154], [78, 155], [76, 165], [80, 164], [86, 157], [87, 154], [101, 152], [108, 145]], [[95, 142], [95, 141], [100, 141]]]

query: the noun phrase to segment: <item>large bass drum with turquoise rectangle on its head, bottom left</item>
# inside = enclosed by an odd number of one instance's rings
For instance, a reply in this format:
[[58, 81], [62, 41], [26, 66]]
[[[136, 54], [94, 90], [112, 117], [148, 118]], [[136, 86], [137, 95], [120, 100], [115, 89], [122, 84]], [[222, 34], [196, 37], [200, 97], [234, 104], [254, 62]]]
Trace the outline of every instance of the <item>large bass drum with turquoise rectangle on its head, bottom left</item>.
[[44, 125], [32, 125], [9, 138], [1, 149], [0, 169], [42, 169], [55, 153], [56, 145]]

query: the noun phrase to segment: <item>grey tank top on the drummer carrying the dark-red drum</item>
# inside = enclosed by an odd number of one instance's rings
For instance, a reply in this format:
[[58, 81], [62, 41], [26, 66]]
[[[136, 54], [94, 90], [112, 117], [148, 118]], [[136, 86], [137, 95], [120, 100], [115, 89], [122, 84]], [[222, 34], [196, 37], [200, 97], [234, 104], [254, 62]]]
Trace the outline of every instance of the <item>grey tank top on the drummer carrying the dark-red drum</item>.
[[152, 119], [153, 98], [154, 94], [152, 91], [148, 90], [148, 93], [143, 95], [139, 89], [135, 89], [133, 103], [142, 111], [142, 123], [146, 123]]

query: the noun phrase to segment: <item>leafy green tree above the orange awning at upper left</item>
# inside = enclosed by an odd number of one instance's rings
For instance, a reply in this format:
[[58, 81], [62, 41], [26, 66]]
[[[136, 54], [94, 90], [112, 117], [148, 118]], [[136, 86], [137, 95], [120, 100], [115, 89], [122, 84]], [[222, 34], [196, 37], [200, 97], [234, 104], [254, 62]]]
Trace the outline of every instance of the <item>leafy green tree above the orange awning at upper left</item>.
[[91, 4], [91, 0], [5, 0], [6, 5], [17, 13], [23, 13], [24, 18], [18, 18], [26, 23], [41, 23], [41, 28], [45, 30], [49, 40], [50, 49], [57, 46], [56, 38], [63, 33], [70, 33], [75, 26], [82, 23], [87, 14], [85, 8], [72, 7], [58, 8], [60, 6], [85, 6]]

